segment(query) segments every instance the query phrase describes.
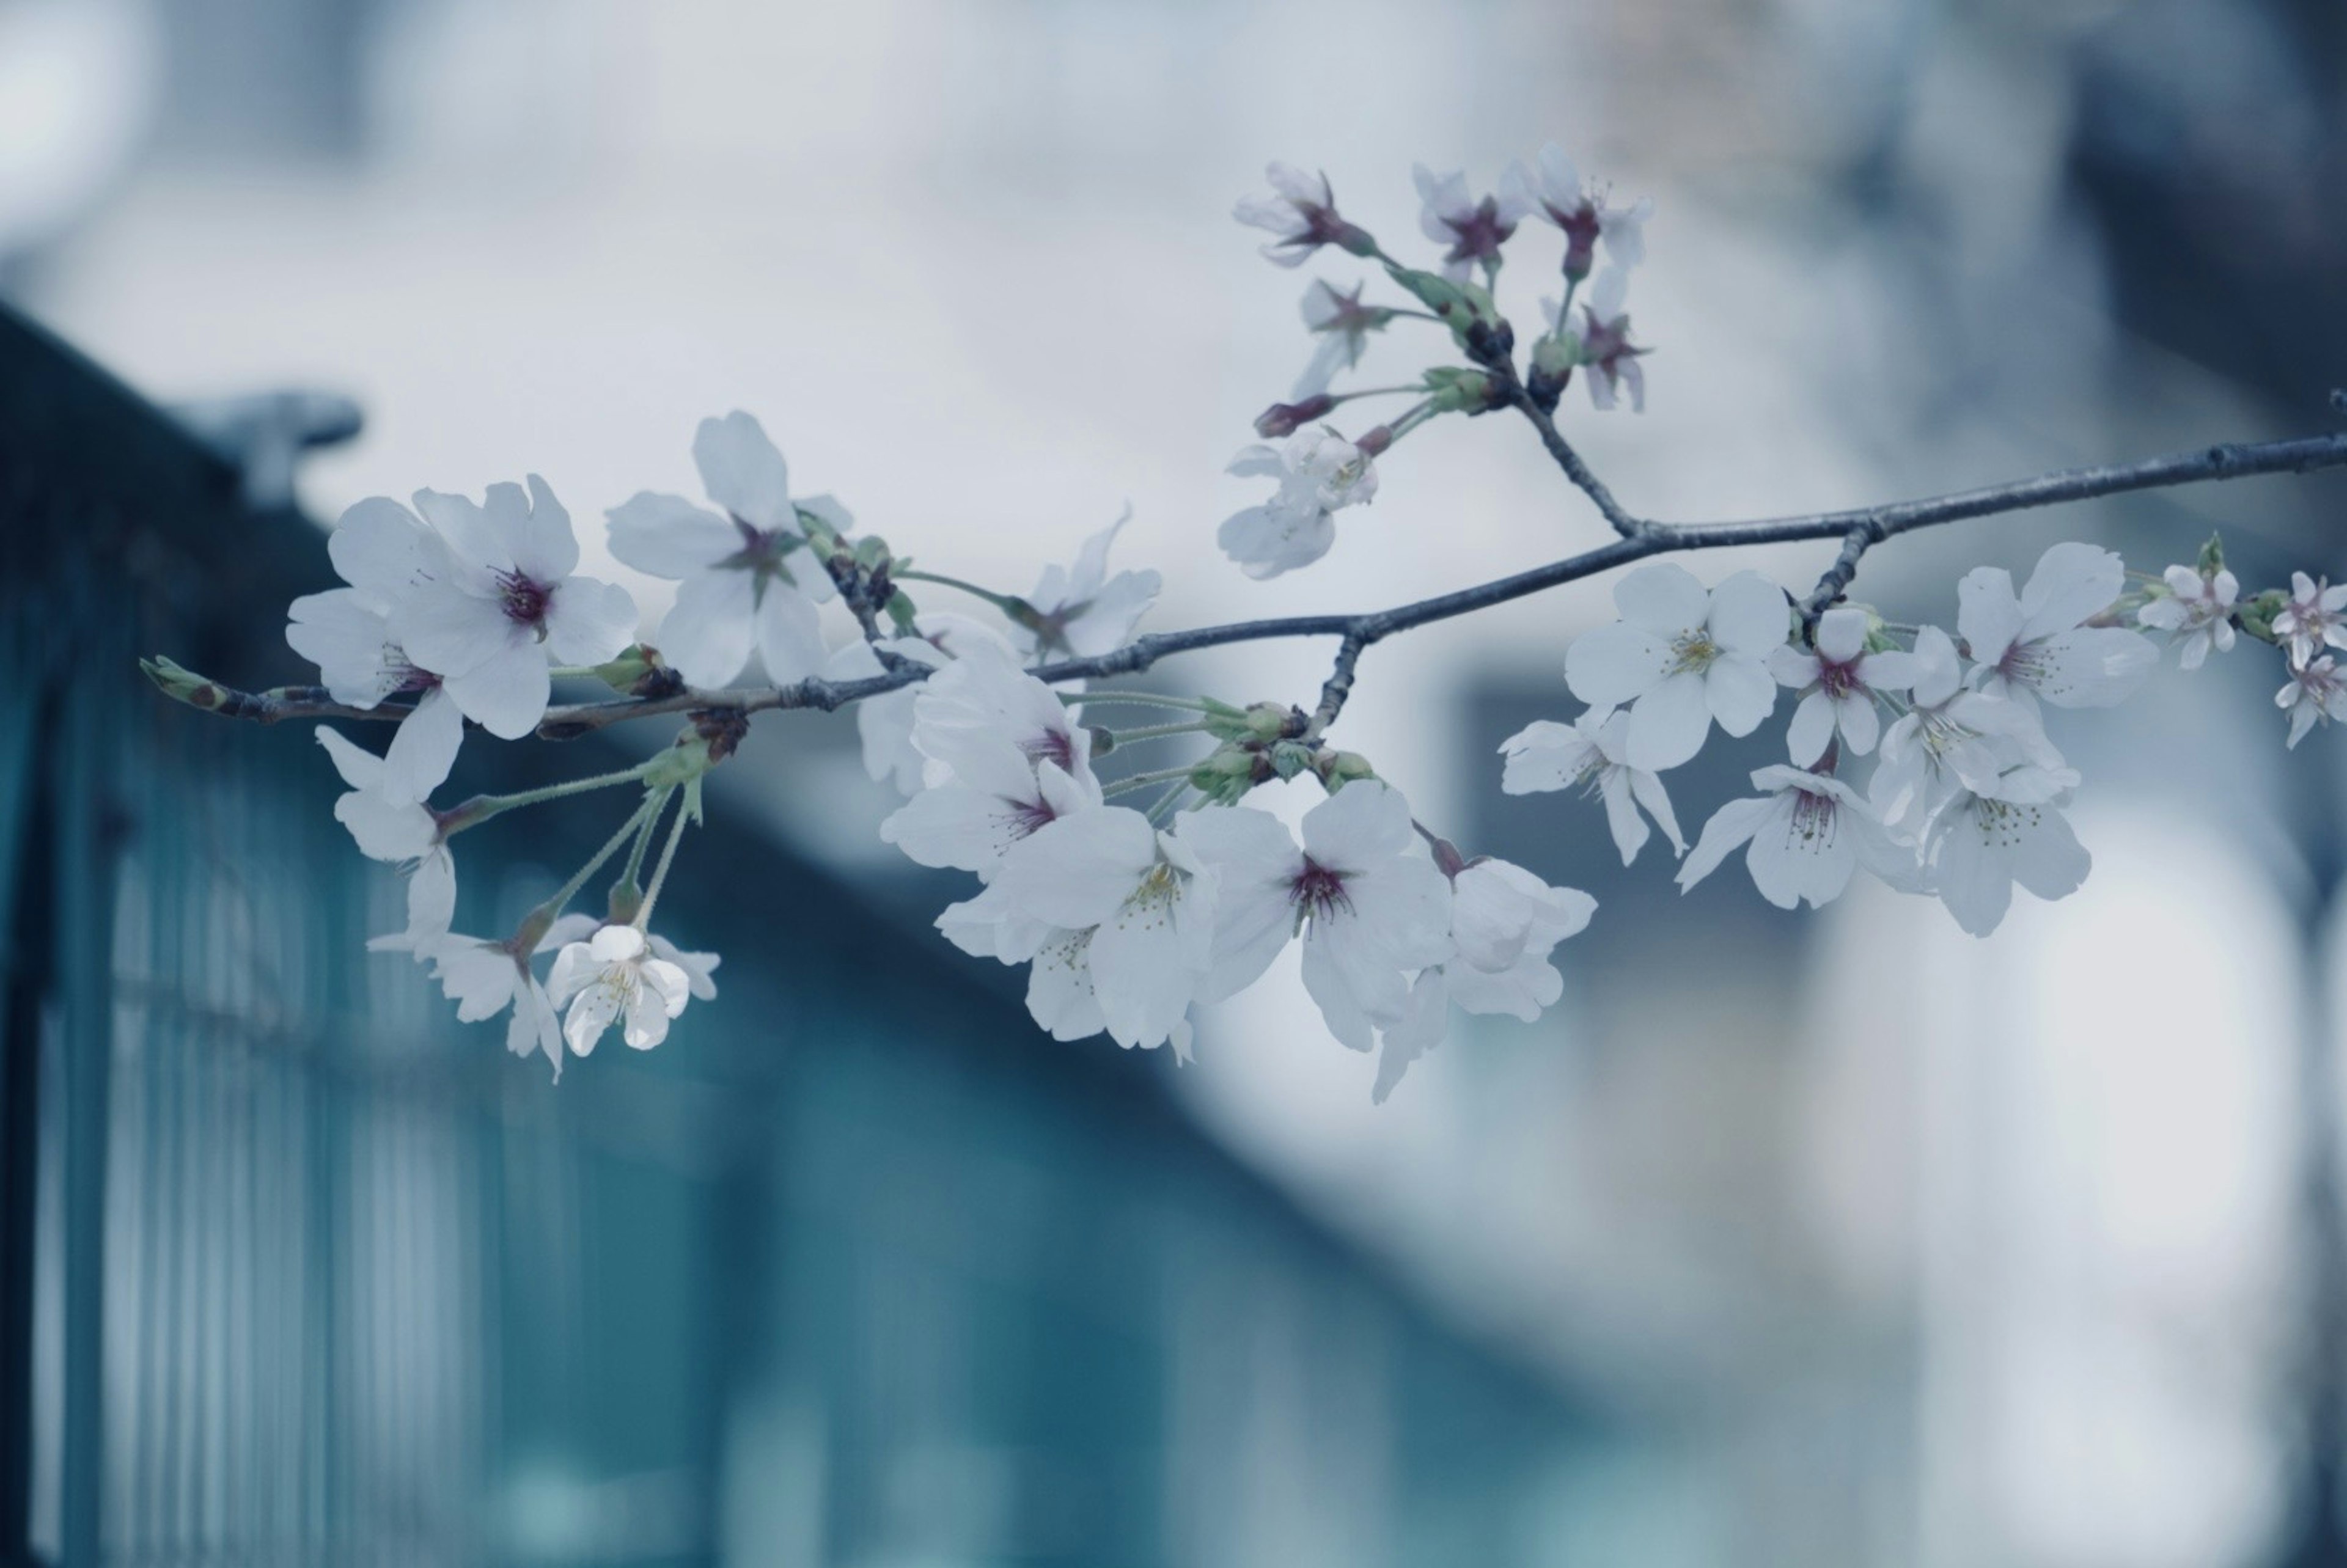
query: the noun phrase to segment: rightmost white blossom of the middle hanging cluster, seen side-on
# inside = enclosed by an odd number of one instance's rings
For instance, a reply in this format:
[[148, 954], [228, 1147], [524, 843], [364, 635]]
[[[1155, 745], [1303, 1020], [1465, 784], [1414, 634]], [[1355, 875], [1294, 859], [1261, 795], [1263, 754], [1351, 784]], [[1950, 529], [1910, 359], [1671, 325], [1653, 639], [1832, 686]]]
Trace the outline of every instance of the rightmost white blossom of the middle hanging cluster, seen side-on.
[[1401, 1016], [1378, 1033], [1378, 1082], [1385, 1103], [1413, 1061], [1441, 1045], [1450, 1007], [1507, 1014], [1526, 1023], [1565, 993], [1565, 976], [1549, 953], [1589, 925], [1598, 901], [1577, 887], [1549, 887], [1523, 866], [1479, 859], [1450, 878], [1450, 941], [1446, 962], [1411, 986]]

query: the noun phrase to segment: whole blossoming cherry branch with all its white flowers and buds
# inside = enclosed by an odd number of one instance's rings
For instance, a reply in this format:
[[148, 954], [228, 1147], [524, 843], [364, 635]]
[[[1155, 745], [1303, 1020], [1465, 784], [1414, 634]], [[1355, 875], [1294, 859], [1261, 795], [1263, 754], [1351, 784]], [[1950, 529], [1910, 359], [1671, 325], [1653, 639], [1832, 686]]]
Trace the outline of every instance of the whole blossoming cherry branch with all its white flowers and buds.
[[[1110, 566], [1124, 516], [1073, 561], [1047, 566], [1028, 594], [981, 587], [915, 568], [828, 495], [793, 495], [777, 446], [751, 415], [730, 413], [702, 420], [692, 441], [704, 500], [638, 493], [606, 514], [610, 554], [674, 584], [648, 641], [627, 589], [577, 573], [570, 516], [530, 477], [479, 502], [422, 491], [413, 507], [350, 507], [329, 540], [343, 587], [289, 613], [286, 641], [317, 664], [319, 688], [235, 692], [169, 660], [148, 671], [202, 709], [394, 721], [380, 753], [333, 725], [317, 730], [345, 786], [336, 819], [408, 878], [406, 925], [368, 946], [406, 953], [458, 1019], [505, 1014], [509, 1049], [545, 1054], [556, 1073], [615, 1026], [629, 1047], [650, 1049], [690, 1000], [716, 998], [718, 958], [652, 927], [678, 845], [702, 817], [704, 775], [735, 751], [751, 711], [852, 704], [866, 772], [901, 796], [880, 838], [920, 866], [976, 880], [936, 930], [969, 955], [1023, 967], [1037, 1026], [1058, 1040], [1169, 1045], [1188, 1059], [1197, 1009], [1253, 986], [1293, 944], [1328, 1033], [1378, 1052], [1378, 1099], [1448, 1035], [1453, 1014], [1530, 1021], [1556, 1005], [1565, 981], [1554, 953], [1596, 911], [1580, 890], [1460, 852], [1368, 758], [1328, 744], [1364, 648], [1396, 629], [1643, 559], [1612, 587], [1617, 620], [1563, 655], [1584, 711], [1509, 737], [1500, 786], [1596, 796], [1624, 866], [1659, 831], [1680, 890], [1741, 850], [1753, 887], [1781, 908], [1828, 904], [1864, 871], [1939, 899], [1974, 934], [2002, 922], [2014, 887], [2058, 899], [2084, 880], [2089, 857], [2065, 815], [2079, 772], [2047, 721], [2126, 699], [2159, 662], [2152, 634], [2183, 669], [2241, 638], [2274, 646], [2288, 671], [2277, 695], [2288, 746], [2347, 718], [2347, 671], [2333, 655], [2347, 648], [2347, 587], [2298, 573], [2288, 589], [2244, 594], [2216, 540], [2157, 577], [2079, 542], [2047, 549], [2018, 589], [1981, 566], [1955, 584], [1953, 629], [1887, 622], [1847, 601], [1859, 559], [1892, 530], [1873, 514], [1854, 514], [1864, 523], [1807, 599], [1751, 570], [1706, 587], [1645, 559], [1699, 549], [1704, 533], [1622, 512], [1554, 420], [1575, 376], [1598, 411], [1645, 404], [1645, 350], [1624, 296], [1645, 258], [1650, 204], [1615, 204], [1554, 146], [1509, 164], [1488, 195], [1457, 171], [1415, 174], [1420, 230], [1439, 249], [1429, 270], [1387, 256], [1338, 211], [1324, 176], [1272, 164], [1272, 195], [1239, 204], [1244, 223], [1270, 230], [1274, 263], [1333, 249], [1373, 263], [1396, 293], [1371, 298], [1375, 277], [1312, 282], [1303, 319], [1317, 345], [1293, 401], [1272, 404], [1256, 420], [1267, 444], [1230, 465], [1270, 479], [1272, 493], [1223, 521], [1223, 552], [1253, 580], [1319, 561], [1338, 514], [1378, 495], [1378, 462], [1396, 441], [1443, 415], [1497, 408], [1540, 430], [1619, 535], [1612, 547], [1375, 615], [1136, 641], [1162, 580]], [[1519, 366], [1493, 286], [1535, 223], [1563, 237], [1563, 291], [1542, 300], [1547, 326]], [[1429, 366], [1401, 387], [1335, 390], [1371, 338], [1420, 324], [1446, 333], [1465, 364]], [[1387, 394], [1413, 401], [1352, 437], [1324, 420]], [[2267, 469], [2309, 467], [2305, 446], [2277, 444]], [[2220, 451], [2227, 472], [2246, 472], [2241, 453], [2255, 448]], [[2016, 507], [2042, 500], [2028, 486], [2014, 495]], [[1964, 502], [1981, 509], [1979, 493]], [[1734, 533], [1833, 538], [1826, 528], [1847, 521]], [[932, 587], [986, 613], [915, 606], [911, 594]], [[1181, 648], [1338, 634], [1314, 711], [1096, 683]], [[765, 685], [737, 685], [758, 678]], [[556, 681], [596, 683], [601, 699], [552, 709]], [[1753, 770], [1753, 793], [1718, 805], [1690, 847], [1664, 775], [1713, 732], [1758, 735], [1781, 707], [1784, 725], [1765, 742], [1774, 751], [1781, 732], [1781, 761]], [[1115, 718], [1136, 709], [1141, 721]], [[643, 714], [683, 714], [688, 725], [629, 768], [432, 803], [467, 725], [519, 739]], [[1143, 746], [1190, 751], [1136, 768]], [[1270, 784], [1317, 784], [1319, 798], [1291, 826], [1256, 796]], [[634, 805], [561, 887], [505, 934], [455, 930], [460, 833], [606, 789]], [[575, 911], [606, 869], [601, 913]]]

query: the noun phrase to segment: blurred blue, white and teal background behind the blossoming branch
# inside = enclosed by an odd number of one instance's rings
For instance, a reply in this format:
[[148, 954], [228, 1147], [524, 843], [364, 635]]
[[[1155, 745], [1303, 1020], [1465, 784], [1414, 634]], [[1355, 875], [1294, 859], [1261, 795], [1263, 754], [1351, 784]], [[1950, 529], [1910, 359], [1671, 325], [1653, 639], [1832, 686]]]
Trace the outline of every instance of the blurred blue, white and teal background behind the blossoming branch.
[[[2347, 1561], [2347, 796], [2333, 735], [2284, 756], [2263, 650], [2063, 716], [2094, 876], [1974, 941], [1875, 887], [1680, 899], [1594, 803], [1500, 796], [1603, 582], [1375, 648], [1342, 742], [1601, 904], [1561, 1007], [1460, 1019], [1378, 1108], [1291, 967], [1192, 1068], [1040, 1038], [821, 716], [760, 721], [678, 866], [723, 1000], [549, 1087], [359, 951], [399, 887], [305, 735], [115, 681], [300, 678], [282, 603], [347, 502], [542, 472], [584, 523], [697, 493], [728, 408], [1007, 592], [1129, 502], [1155, 627], [1584, 547], [1500, 420], [1413, 437], [1310, 573], [1211, 542], [1310, 352], [1314, 270], [1227, 216], [1263, 162], [1418, 256], [1413, 160], [1488, 185], [1542, 141], [1657, 202], [1650, 411], [1565, 406], [1638, 512], [2338, 420], [2335, 0], [0, 0], [0, 298], [38, 322], [0, 340], [0, 1552]], [[1516, 249], [1521, 322], [1554, 237]], [[2129, 498], [1903, 540], [1856, 594], [1948, 622], [1969, 566], [2211, 528], [2263, 587], [2347, 573], [2342, 516], [2324, 477]], [[1326, 655], [1155, 678], [1298, 699]], [[1777, 749], [1671, 775], [1687, 829]], [[584, 756], [472, 751], [472, 786]], [[603, 831], [505, 836], [460, 925]]]

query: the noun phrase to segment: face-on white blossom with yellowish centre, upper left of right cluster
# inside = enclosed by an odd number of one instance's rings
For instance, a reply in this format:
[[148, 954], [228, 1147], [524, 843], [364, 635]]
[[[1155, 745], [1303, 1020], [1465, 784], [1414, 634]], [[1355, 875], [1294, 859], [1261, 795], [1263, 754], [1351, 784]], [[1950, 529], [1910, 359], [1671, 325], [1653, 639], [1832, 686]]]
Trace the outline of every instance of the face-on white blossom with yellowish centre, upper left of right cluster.
[[1751, 735], [1777, 707], [1767, 655], [1784, 646], [1784, 592], [1737, 573], [1706, 592], [1683, 566], [1652, 561], [1615, 584], [1622, 620], [1565, 650], [1565, 683], [1594, 709], [1629, 707], [1622, 761], [1659, 772], [1704, 749], [1711, 723]]

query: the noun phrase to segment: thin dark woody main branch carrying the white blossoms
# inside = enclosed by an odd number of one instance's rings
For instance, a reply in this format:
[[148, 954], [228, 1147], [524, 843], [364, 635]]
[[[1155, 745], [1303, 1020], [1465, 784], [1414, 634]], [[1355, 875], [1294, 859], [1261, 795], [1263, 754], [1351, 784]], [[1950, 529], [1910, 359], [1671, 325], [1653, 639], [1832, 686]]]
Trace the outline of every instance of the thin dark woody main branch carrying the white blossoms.
[[[2058, 469], [2011, 484], [1932, 495], [1925, 500], [1901, 500], [1882, 507], [1856, 507], [1847, 512], [1807, 512], [1798, 516], [1767, 516], [1739, 523], [1655, 523], [1631, 519], [1634, 533], [1596, 549], [1587, 549], [1563, 561], [1549, 561], [1511, 577], [1497, 577], [1476, 587], [1439, 594], [1389, 610], [1361, 615], [1286, 615], [1274, 620], [1242, 620], [1223, 627], [1197, 627], [1192, 631], [1152, 631], [1124, 648], [1084, 657], [1040, 664], [1030, 674], [1040, 681], [1077, 681], [1129, 676], [1157, 664], [1176, 653], [1199, 648], [1223, 648], [1230, 643], [1260, 643], [1291, 636], [1338, 636], [1345, 646], [1338, 653], [1340, 669], [1331, 671], [1328, 688], [1335, 688], [1335, 709], [1350, 690], [1352, 660], [1359, 650], [1396, 631], [1425, 627], [1457, 615], [1472, 615], [1493, 606], [1540, 594], [1565, 582], [1594, 577], [1648, 556], [1678, 554], [1690, 549], [1725, 549], [1734, 545], [1788, 545], [1798, 540], [1842, 540], [1849, 554], [1852, 535], [1868, 533], [1873, 542], [1974, 516], [1997, 516], [2004, 512], [2028, 512], [2070, 500], [2094, 500], [2101, 495], [2124, 495], [2129, 491], [2157, 491], [2178, 484], [2209, 479], [2246, 479], [2251, 474], [2307, 474], [2316, 469], [2347, 467], [2347, 432], [2328, 437], [2300, 437], [2293, 441], [2253, 441], [2225, 446], [2197, 446], [2183, 453], [2148, 458], [2143, 462], [2110, 462], [2094, 467]], [[1603, 486], [1598, 486], [1603, 491]], [[1610, 495], [1608, 495], [1610, 502]], [[1603, 502], [1601, 502], [1603, 505]], [[1629, 514], [1624, 514], [1629, 516]], [[620, 697], [613, 702], [577, 702], [547, 709], [537, 732], [545, 739], [570, 739], [629, 718], [652, 718], [660, 714], [725, 711], [763, 714], [772, 709], [838, 709], [864, 697], [878, 697], [901, 685], [925, 678], [927, 667], [892, 669], [861, 681], [798, 681], [793, 685], [732, 688], [718, 692], [683, 690], [664, 697]], [[1342, 681], [1340, 681], [1342, 676]], [[258, 718], [277, 723], [282, 718], [401, 718], [404, 707], [347, 709], [326, 699], [319, 688], [279, 688], [275, 692], [235, 692], [204, 683], [218, 695], [216, 702], [197, 702], [232, 718]], [[1321, 690], [1321, 707], [1331, 707], [1328, 688]], [[171, 690], [167, 685], [167, 690]], [[178, 695], [178, 692], [174, 692]], [[188, 699], [188, 697], [181, 697]], [[1331, 709], [1333, 718], [1333, 709]]]

